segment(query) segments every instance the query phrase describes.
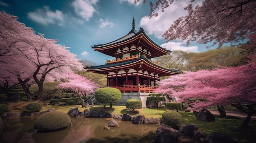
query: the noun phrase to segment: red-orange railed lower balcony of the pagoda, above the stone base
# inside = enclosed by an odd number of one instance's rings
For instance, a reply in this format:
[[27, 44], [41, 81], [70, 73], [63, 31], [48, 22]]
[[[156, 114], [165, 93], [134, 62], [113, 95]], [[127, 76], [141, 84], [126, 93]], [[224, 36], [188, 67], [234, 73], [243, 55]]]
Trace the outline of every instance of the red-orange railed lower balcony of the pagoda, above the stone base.
[[108, 86], [112, 88], [117, 88], [121, 92], [148, 92], [153, 93], [157, 89], [157, 86], [145, 86], [145, 85], [126, 85], [126, 86]]

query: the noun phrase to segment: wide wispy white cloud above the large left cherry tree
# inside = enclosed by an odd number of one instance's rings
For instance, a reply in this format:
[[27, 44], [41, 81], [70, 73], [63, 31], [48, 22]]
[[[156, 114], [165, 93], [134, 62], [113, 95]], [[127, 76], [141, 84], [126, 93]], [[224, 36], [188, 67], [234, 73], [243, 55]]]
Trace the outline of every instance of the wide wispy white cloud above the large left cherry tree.
[[51, 11], [49, 6], [44, 6], [44, 9], [36, 9], [36, 11], [27, 13], [27, 18], [43, 25], [57, 23], [60, 26], [64, 26], [64, 14], [62, 11]]

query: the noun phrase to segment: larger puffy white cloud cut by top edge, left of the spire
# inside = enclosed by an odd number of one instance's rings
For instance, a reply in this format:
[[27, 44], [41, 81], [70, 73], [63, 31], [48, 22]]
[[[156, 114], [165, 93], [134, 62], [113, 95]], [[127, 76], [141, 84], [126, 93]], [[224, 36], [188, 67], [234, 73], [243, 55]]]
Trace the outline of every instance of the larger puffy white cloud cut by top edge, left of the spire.
[[98, 0], [74, 0], [72, 6], [77, 15], [80, 15], [86, 21], [88, 21], [96, 10], [93, 5], [96, 5]]

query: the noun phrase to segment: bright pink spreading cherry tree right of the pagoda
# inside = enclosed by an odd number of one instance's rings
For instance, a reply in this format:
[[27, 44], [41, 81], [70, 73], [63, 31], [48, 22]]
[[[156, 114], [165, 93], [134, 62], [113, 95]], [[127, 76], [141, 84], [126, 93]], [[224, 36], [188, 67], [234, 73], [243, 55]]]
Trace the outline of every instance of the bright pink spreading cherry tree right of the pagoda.
[[242, 127], [247, 127], [252, 114], [256, 113], [256, 55], [248, 64], [238, 67], [214, 70], [184, 72], [159, 81], [156, 92], [177, 97], [179, 102], [187, 102], [191, 110], [232, 105], [248, 114]]

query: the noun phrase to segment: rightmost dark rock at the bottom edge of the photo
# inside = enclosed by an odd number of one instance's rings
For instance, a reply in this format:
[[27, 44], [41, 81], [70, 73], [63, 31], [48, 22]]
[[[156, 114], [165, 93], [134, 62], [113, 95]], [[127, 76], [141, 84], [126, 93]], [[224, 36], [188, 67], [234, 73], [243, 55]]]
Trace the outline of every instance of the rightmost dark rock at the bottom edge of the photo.
[[209, 137], [208, 143], [231, 143], [232, 139], [230, 136], [227, 136], [225, 134], [220, 134], [217, 132], [211, 133], [211, 136]]

